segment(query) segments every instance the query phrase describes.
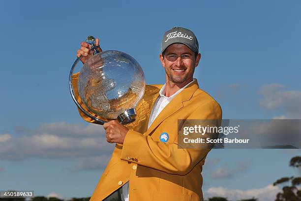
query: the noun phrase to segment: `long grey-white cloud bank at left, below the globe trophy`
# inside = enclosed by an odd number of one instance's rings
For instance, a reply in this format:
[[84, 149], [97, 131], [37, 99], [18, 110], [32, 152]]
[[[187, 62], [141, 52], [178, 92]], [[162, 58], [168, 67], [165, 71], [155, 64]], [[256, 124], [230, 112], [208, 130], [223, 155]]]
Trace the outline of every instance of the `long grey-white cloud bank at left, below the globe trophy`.
[[[114, 144], [106, 141], [100, 125], [78, 125], [67, 123], [45, 124], [35, 129], [19, 127], [16, 131], [24, 135], [0, 135], [0, 160], [23, 160], [27, 158], [72, 158], [79, 159], [78, 169], [96, 168], [83, 166], [85, 158], [111, 156]], [[102, 160], [102, 166], [105, 162]]]

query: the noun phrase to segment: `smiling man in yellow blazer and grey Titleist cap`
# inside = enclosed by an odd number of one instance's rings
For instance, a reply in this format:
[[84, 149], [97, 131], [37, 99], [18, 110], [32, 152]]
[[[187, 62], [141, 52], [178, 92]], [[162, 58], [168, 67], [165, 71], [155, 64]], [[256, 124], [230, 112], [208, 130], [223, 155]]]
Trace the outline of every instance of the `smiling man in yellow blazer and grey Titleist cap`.
[[[89, 44], [82, 43], [77, 56], [83, 55], [85, 63], [90, 54]], [[103, 125], [107, 141], [116, 146], [91, 201], [203, 201], [201, 171], [210, 149], [178, 148], [178, 119], [222, 116], [219, 104], [193, 78], [200, 58], [193, 32], [178, 27], [164, 34], [160, 61], [165, 85], [147, 85], [133, 123]]]

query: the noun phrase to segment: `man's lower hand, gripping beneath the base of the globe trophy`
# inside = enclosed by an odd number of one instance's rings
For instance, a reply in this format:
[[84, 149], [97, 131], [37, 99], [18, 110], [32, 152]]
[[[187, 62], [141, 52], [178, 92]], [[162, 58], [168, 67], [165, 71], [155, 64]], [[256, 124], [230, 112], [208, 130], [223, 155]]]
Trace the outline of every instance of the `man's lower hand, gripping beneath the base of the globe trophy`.
[[103, 128], [106, 130], [107, 142], [123, 144], [128, 129], [117, 120], [104, 123]]

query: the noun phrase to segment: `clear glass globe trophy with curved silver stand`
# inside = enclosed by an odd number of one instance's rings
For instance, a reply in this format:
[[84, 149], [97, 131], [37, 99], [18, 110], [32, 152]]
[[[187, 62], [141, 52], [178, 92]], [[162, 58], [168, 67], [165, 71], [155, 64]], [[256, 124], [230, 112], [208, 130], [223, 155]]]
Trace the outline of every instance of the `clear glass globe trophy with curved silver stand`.
[[[138, 62], [128, 54], [109, 50], [99, 52], [95, 38], [88, 36], [93, 56], [79, 73], [78, 93], [85, 106], [95, 115], [105, 119], [118, 119], [121, 124], [135, 121], [135, 107], [145, 92], [144, 73]], [[82, 56], [74, 62], [69, 75], [69, 89], [78, 108], [95, 123], [106, 121], [87, 112], [75, 98], [72, 75]]]

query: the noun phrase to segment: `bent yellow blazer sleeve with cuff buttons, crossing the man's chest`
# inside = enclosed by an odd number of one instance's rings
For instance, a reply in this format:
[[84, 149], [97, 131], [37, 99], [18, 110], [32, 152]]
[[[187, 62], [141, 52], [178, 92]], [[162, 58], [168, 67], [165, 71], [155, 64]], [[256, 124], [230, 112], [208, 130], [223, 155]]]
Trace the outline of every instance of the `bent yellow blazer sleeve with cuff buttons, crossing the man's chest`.
[[[215, 125], [219, 126], [222, 111], [219, 104], [215, 101], [206, 103], [194, 110], [187, 119], [212, 119], [218, 121]], [[180, 137], [180, 136], [179, 136]], [[208, 133], [201, 135], [206, 139]], [[189, 173], [200, 161], [208, 154], [211, 148], [178, 148], [178, 143], [164, 143], [154, 140], [150, 135], [129, 130], [123, 142], [121, 160], [133, 162], [145, 167], [151, 167], [164, 171], [169, 174], [185, 175]]]

